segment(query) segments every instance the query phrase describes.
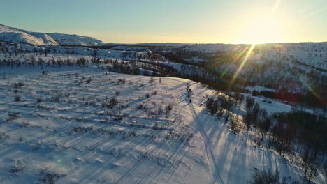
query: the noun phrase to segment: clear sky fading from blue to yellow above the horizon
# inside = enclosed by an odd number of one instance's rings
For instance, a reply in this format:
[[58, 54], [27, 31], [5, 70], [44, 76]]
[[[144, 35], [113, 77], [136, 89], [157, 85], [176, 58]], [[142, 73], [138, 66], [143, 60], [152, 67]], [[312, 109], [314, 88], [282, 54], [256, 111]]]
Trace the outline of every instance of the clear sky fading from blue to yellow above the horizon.
[[20, 29], [108, 43], [327, 41], [326, 0], [10, 0], [0, 17]]

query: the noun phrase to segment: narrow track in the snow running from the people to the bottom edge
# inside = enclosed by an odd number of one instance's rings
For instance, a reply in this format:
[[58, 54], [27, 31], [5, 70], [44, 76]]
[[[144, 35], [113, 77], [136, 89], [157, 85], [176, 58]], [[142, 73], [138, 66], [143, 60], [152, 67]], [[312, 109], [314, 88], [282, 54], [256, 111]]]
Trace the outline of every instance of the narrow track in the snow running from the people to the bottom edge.
[[202, 125], [201, 121], [198, 120], [198, 116], [196, 114], [193, 104], [189, 103], [189, 107], [191, 109], [191, 113], [194, 118], [194, 122], [196, 123], [196, 127], [198, 128], [198, 131], [200, 132], [203, 142], [205, 144], [205, 152], [207, 153], [208, 162], [210, 164], [210, 171], [214, 178], [214, 183], [223, 184], [223, 181], [221, 180], [221, 177], [219, 176], [219, 173], [218, 173], [217, 165], [215, 162], [215, 156], [214, 156], [212, 148], [211, 148], [212, 144], [210, 142], [210, 139], [208, 139], [207, 134], [205, 133], [205, 130], [203, 129], [203, 125]]

